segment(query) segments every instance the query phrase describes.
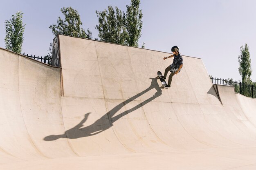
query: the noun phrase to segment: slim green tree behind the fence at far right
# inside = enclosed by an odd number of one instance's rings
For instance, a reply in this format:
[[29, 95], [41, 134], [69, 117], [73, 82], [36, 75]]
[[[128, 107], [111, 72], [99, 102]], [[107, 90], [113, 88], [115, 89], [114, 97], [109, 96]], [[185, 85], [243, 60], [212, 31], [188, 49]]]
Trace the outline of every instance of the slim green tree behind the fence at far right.
[[249, 46], [245, 43], [245, 47], [240, 47], [241, 54], [238, 55], [238, 62], [239, 62], [239, 74], [242, 77], [242, 83], [244, 84], [252, 84], [252, 80], [250, 79], [252, 75], [252, 68], [251, 68], [251, 59], [249, 53]]

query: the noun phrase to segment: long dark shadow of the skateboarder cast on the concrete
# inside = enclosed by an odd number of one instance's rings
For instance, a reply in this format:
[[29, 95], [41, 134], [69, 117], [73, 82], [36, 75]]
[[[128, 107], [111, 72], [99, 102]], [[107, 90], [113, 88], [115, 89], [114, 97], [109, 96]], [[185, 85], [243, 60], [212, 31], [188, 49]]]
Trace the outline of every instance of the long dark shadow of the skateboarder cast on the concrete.
[[[49, 135], [49, 136], [45, 137], [44, 140], [45, 141], [53, 141], [53, 140], [57, 140], [59, 138], [77, 139], [77, 138], [81, 138], [81, 137], [97, 135], [97, 134], [103, 132], [104, 130], [109, 129], [111, 126], [113, 126], [113, 123], [115, 121], [117, 121], [118, 119], [120, 119], [121, 117], [141, 108], [142, 106], [148, 104], [155, 98], [162, 95], [162, 89], [157, 84], [157, 77], [150, 78], [150, 79], [151, 79], [151, 84], [148, 88], [146, 88], [141, 93], [138, 93], [137, 95], [130, 97], [130, 99], [127, 99], [126, 101], [121, 102], [120, 104], [118, 104], [117, 106], [112, 108], [109, 112], [107, 112], [105, 115], [103, 115], [100, 119], [95, 121], [93, 124], [83, 127], [83, 124], [85, 123], [85, 121], [88, 119], [88, 116], [90, 115], [90, 113], [86, 113], [84, 116], [84, 119], [79, 124], [77, 124], [74, 128], [66, 130], [66, 132], [62, 135]], [[125, 110], [124, 112], [120, 113], [119, 115], [114, 116], [126, 104], [132, 102], [133, 100], [137, 99], [139, 96], [144, 95], [145, 93], [147, 93], [148, 91], [150, 91], [154, 88], [155, 88], [156, 92], [152, 97], [139, 103], [137, 106], [134, 106], [133, 108]]]

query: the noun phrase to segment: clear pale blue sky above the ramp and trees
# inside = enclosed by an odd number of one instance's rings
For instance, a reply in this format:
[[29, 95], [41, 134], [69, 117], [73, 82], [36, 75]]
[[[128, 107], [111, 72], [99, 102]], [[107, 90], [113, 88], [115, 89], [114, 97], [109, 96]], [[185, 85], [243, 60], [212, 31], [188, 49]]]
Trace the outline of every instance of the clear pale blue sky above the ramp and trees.
[[[22, 11], [26, 23], [22, 52], [44, 56], [54, 35], [49, 26], [63, 18], [62, 7], [76, 9], [83, 28], [98, 24], [95, 11], [109, 5], [126, 11], [130, 0], [1, 0], [0, 47], [4, 48], [4, 21]], [[256, 82], [255, 0], [141, 0], [143, 27], [139, 46], [171, 52], [180, 47], [182, 55], [202, 58], [209, 75], [241, 80], [238, 73], [240, 47], [249, 46], [252, 80]], [[168, 62], [168, 60], [166, 60]], [[161, 70], [163, 68], [159, 68]]]

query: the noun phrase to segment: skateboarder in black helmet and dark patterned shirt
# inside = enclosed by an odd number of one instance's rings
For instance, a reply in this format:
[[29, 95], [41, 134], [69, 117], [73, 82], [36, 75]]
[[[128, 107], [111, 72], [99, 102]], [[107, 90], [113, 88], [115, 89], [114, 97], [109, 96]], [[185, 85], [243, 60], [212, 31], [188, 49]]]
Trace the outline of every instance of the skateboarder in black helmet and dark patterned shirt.
[[165, 69], [163, 76], [160, 76], [160, 78], [166, 79], [168, 71], [171, 72], [171, 74], [168, 77], [168, 84], [166, 86], [164, 86], [165, 88], [171, 87], [171, 82], [172, 82], [172, 79], [173, 79], [173, 75], [175, 75], [177, 73], [180, 73], [180, 71], [182, 69], [182, 66], [183, 66], [183, 58], [182, 58], [182, 55], [179, 53], [179, 47], [178, 46], [173, 46], [171, 51], [173, 52], [173, 55], [170, 55], [169, 57], [164, 57], [163, 60], [166, 60], [167, 58], [174, 57], [173, 64], [171, 64], [170, 66], [168, 66]]

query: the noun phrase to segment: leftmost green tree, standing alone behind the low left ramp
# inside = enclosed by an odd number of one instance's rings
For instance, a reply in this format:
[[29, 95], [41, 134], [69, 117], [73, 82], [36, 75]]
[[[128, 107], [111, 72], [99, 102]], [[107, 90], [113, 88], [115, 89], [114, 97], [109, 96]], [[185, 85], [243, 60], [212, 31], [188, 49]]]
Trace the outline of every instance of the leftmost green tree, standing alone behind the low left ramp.
[[25, 25], [22, 22], [22, 12], [18, 11], [16, 15], [11, 15], [10, 20], [5, 20], [5, 33], [4, 38], [5, 48], [16, 53], [21, 53], [23, 43], [23, 33]]

